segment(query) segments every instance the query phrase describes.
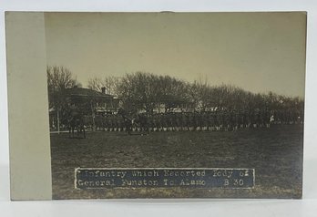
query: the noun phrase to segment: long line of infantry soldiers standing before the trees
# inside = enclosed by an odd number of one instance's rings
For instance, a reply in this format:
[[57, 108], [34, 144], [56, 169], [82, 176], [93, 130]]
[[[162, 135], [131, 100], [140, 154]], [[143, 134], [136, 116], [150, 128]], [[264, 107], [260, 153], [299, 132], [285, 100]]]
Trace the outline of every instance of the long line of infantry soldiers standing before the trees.
[[289, 110], [213, 111], [136, 114], [130, 129], [118, 114], [85, 117], [87, 127], [102, 131], [233, 131], [270, 128], [271, 124], [302, 124], [301, 112]]

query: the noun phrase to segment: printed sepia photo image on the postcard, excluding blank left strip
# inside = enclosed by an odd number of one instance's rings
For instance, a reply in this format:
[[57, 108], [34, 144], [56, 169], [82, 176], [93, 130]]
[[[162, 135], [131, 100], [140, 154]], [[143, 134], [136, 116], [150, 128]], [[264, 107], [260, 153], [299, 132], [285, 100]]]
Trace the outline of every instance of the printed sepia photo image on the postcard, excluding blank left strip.
[[45, 13], [53, 199], [302, 198], [306, 14]]

